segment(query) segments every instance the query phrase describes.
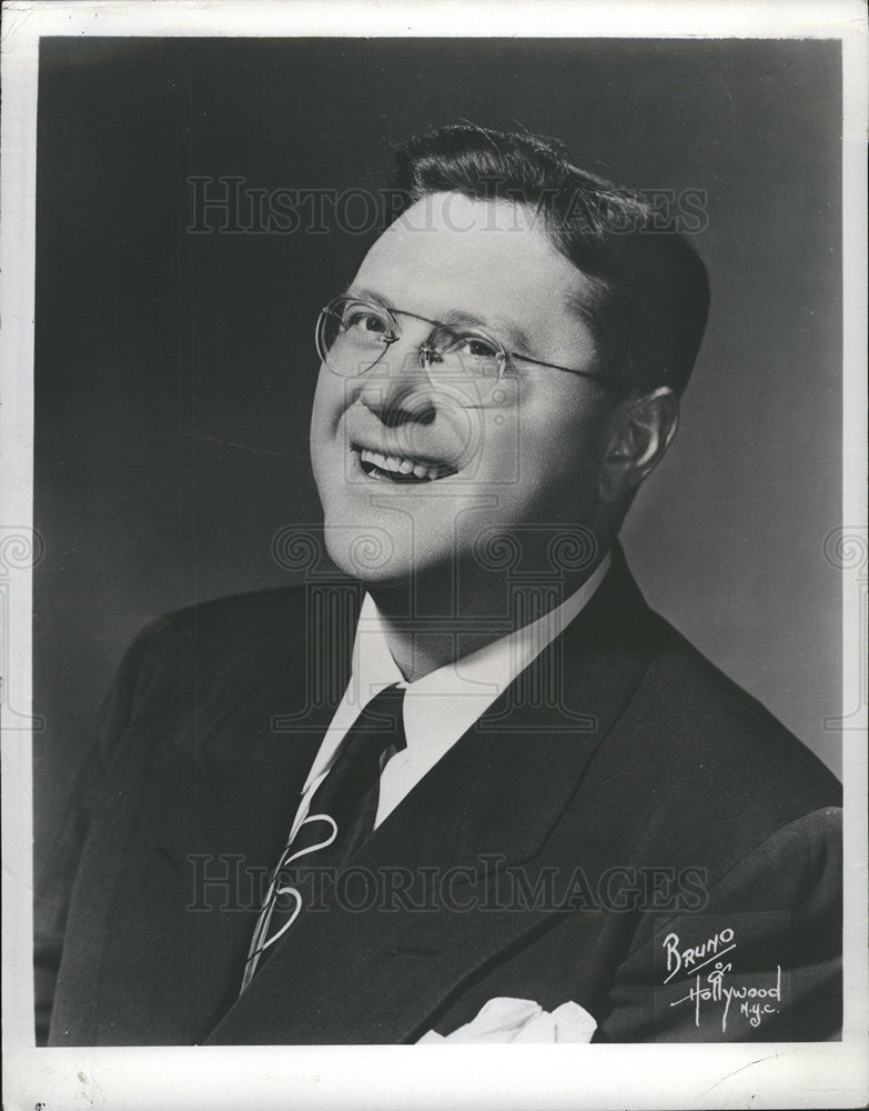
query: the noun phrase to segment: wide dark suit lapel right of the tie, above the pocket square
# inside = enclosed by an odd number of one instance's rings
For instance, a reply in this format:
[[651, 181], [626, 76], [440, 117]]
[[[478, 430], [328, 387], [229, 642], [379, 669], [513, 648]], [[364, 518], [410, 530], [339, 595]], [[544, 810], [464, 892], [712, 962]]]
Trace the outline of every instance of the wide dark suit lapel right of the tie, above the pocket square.
[[[518, 677], [374, 832], [327, 908], [287, 931], [208, 1041], [413, 1041], [463, 981], [538, 928], [546, 911], [499, 909], [493, 884], [539, 853], [577, 791], [648, 663], [648, 621], [616, 553], [536, 661], [553, 681]], [[557, 698], [532, 698], [540, 689]]]

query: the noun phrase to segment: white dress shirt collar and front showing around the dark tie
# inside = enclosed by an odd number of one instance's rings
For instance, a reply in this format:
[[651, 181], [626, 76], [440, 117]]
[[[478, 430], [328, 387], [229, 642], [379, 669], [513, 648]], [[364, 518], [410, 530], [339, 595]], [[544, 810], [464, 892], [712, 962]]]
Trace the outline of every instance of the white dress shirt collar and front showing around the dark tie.
[[311, 797], [329, 774], [347, 730], [375, 694], [393, 683], [405, 689], [407, 739], [407, 747], [396, 752], [381, 773], [376, 829], [519, 672], [577, 617], [600, 585], [609, 563], [607, 553], [578, 590], [537, 621], [413, 683], [405, 681], [393, 660], [377, 607], [366, 594], [356, 625], [350, 683], [311, 765], [291, 838], [304, 821]]

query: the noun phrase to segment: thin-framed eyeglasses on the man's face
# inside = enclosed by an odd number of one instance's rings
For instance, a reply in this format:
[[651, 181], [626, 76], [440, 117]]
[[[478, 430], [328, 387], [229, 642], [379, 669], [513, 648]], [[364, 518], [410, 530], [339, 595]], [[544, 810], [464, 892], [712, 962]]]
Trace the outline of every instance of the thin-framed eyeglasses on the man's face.
[[504, 377], [511, 362], [563, 370], [614, 386], [597, 371], [559, 367], [531, 356], [508, 351], [501, 340], [476, 328], [444, 324], [404, 309], [387, 309], [362, 297], [336, 297], [321, 309], [316, 326], [316, 349], [326, 367], [341, 378], [357, 378], [376, 366], [393, 343], [401, 339], [396, 317], [410, 317], [431, 324], [428, 338], [420, 347], [420, 363], [433, 384], [445, 382], [477, 383], [491, 392]]

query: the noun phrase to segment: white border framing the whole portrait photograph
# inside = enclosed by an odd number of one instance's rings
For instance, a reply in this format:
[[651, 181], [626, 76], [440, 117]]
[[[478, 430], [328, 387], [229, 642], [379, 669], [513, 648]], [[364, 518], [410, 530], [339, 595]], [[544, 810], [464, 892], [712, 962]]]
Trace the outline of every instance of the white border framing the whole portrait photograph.
[[[843, 66], [842, 571], [846, 999], [841, 1042], [572, 1047], [37, 1049], [33, 1042], [30, 733], [33, 278], [38, 49], [42, 36], [838, 39]], [[3, 1089], [14, 1111], [143, 1108], [855, 1107], [869, 1098], [866, 960], [866, 10], [857, 2], [67, 3], [4, 6], [2, 113]], [[31, 556], [28, 556], [28, 544]], [[845, 561], [847, 562], [847, 561]], [[11, 635], [7, 639], [8, 630]], [[851, 718], [855, 722], [856, 719]], [[614, 1081], [617, 1078], [617, 1082]]]

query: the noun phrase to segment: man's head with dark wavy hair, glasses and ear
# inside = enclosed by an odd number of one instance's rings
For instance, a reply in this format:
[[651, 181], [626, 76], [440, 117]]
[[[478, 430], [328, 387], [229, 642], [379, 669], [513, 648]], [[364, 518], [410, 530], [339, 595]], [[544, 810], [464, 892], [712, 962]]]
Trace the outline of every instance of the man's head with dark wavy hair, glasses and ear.
[[531, 137], [416, 138], [396, 186], [402, 214], [321, 320], [312, 458], [333, 558], [448, 592], [473, 589], [495, 530], [527, 570], [559, 529], [605, 547], [675, 433], [703, 263]]

